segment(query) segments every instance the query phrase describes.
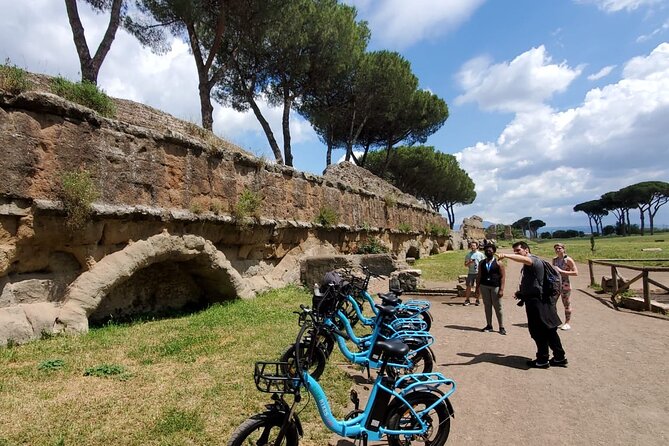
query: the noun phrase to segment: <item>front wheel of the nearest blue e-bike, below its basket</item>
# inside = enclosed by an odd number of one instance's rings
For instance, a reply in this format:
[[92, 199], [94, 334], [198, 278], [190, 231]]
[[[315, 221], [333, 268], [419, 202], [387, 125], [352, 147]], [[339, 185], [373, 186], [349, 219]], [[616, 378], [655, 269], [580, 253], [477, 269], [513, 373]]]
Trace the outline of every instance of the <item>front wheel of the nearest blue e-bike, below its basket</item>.
[[232, 433], [228, 446], [297, 446], [299, 435], [293, 423], [286, 426], [283, 440], [276, 442], [282, 425], [283, 414], [254, 415]]

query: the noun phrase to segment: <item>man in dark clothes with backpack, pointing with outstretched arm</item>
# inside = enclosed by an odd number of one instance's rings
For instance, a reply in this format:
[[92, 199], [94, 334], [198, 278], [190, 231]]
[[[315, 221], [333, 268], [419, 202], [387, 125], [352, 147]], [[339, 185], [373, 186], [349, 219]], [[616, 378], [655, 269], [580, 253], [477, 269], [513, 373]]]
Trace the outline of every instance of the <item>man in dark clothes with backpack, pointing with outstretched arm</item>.
[[[548, 299], [541, 298], [543, 263], [530, 253], [530, 247], [523, 241], [513, 244], [513, 254], [499, 254], [497, 258], [498, 260], [508, 258], [523, 265], [516, 298], [520, 299], [519, 305], [525, 305], [527, 328], [537, 345], [536, 359], [527, 361], [527, 365], [539, 369], [547, 369], [550, 366], [566, 367], [567, 357], [557, 332], [561, 323], [560, 316], [554, 304]], [[548, 359], [549, 349], [553, 351], [553, 357], [550, 359]]]

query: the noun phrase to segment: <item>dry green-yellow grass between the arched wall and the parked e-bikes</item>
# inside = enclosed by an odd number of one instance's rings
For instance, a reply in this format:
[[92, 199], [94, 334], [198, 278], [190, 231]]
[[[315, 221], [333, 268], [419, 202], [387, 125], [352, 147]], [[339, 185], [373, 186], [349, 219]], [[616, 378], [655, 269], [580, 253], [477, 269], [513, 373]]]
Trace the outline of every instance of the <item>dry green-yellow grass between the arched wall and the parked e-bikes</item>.
[[[183, 317], [0, 348], [0, 413], [12, 414], [0, 423], [0, 445], [225, 444], [270, 402], [255, 388], [253, 364], [278, 360], [298, 331], [292, 312], [309, 302], [304, 289], [287, 287]], [[339, 417], [353, 383], [334, 365], [342, 361], [333, 353], [321, 378]], [[313, 401], [300, 407], [301, 444], [326, 444]]]

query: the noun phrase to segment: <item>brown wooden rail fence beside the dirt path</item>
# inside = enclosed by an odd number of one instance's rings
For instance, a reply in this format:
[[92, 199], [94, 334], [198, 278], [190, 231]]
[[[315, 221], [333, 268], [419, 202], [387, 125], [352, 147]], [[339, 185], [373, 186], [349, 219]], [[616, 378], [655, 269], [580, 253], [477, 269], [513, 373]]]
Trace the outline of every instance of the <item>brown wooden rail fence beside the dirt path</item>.
[[[637, 280], [642, 280], [643, 286], [643, 300], [644, 308], [646, 310], [652, 310], [651, 301], [650, 301], [650, 284], [653, 284], [667, 292], [669, 292], [669, 286], [659, 283], [656, 280], [650, 278], [650, 273], [662, 273], [669, 272], [669, 266], [634, 266], [630, 263], [644, 262], [644, 263], [667, 263], [669, 264], [669, 259], [592, 259], [588, 260], [588, 267], [590, 268], [590, 284], [596, 285], [595, 282], [595, 272], [593, 265], [604, 265], [611, 268], [611, 279], [612, 279], [612, 294], [611, 302], [614, 306], [618, 306], [619, 301], [618, 297], [629, 289]], [[637, 271], [639, 274], [631, 280], [625, 281], [625, 279], [618, 273], [619, 269], [629, 269], [632, 271]], [[618, 286], [618, 280], [622, 279], [623, 284]]]

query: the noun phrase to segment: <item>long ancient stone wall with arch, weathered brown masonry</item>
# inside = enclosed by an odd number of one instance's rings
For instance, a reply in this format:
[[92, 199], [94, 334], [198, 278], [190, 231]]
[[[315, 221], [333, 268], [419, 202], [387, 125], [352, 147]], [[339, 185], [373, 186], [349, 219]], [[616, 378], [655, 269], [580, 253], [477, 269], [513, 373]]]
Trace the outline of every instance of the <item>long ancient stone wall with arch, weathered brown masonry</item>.
[[[447, 222], [367, 171], [299, 172], [116, 102], [112, 120], [49, 93], [0, 91], [0, 345], [251, 297], [298, 282], [306, 257], [372, 242], [397, 261], [445, 250], [425, 229]], [[63, 173], [82, 169], [101, 197], [71, 230], [58, 192]], [[240, 219], [244, 191], [262, 201]], [[337, 224], [314, 223], [325, 207]]]

